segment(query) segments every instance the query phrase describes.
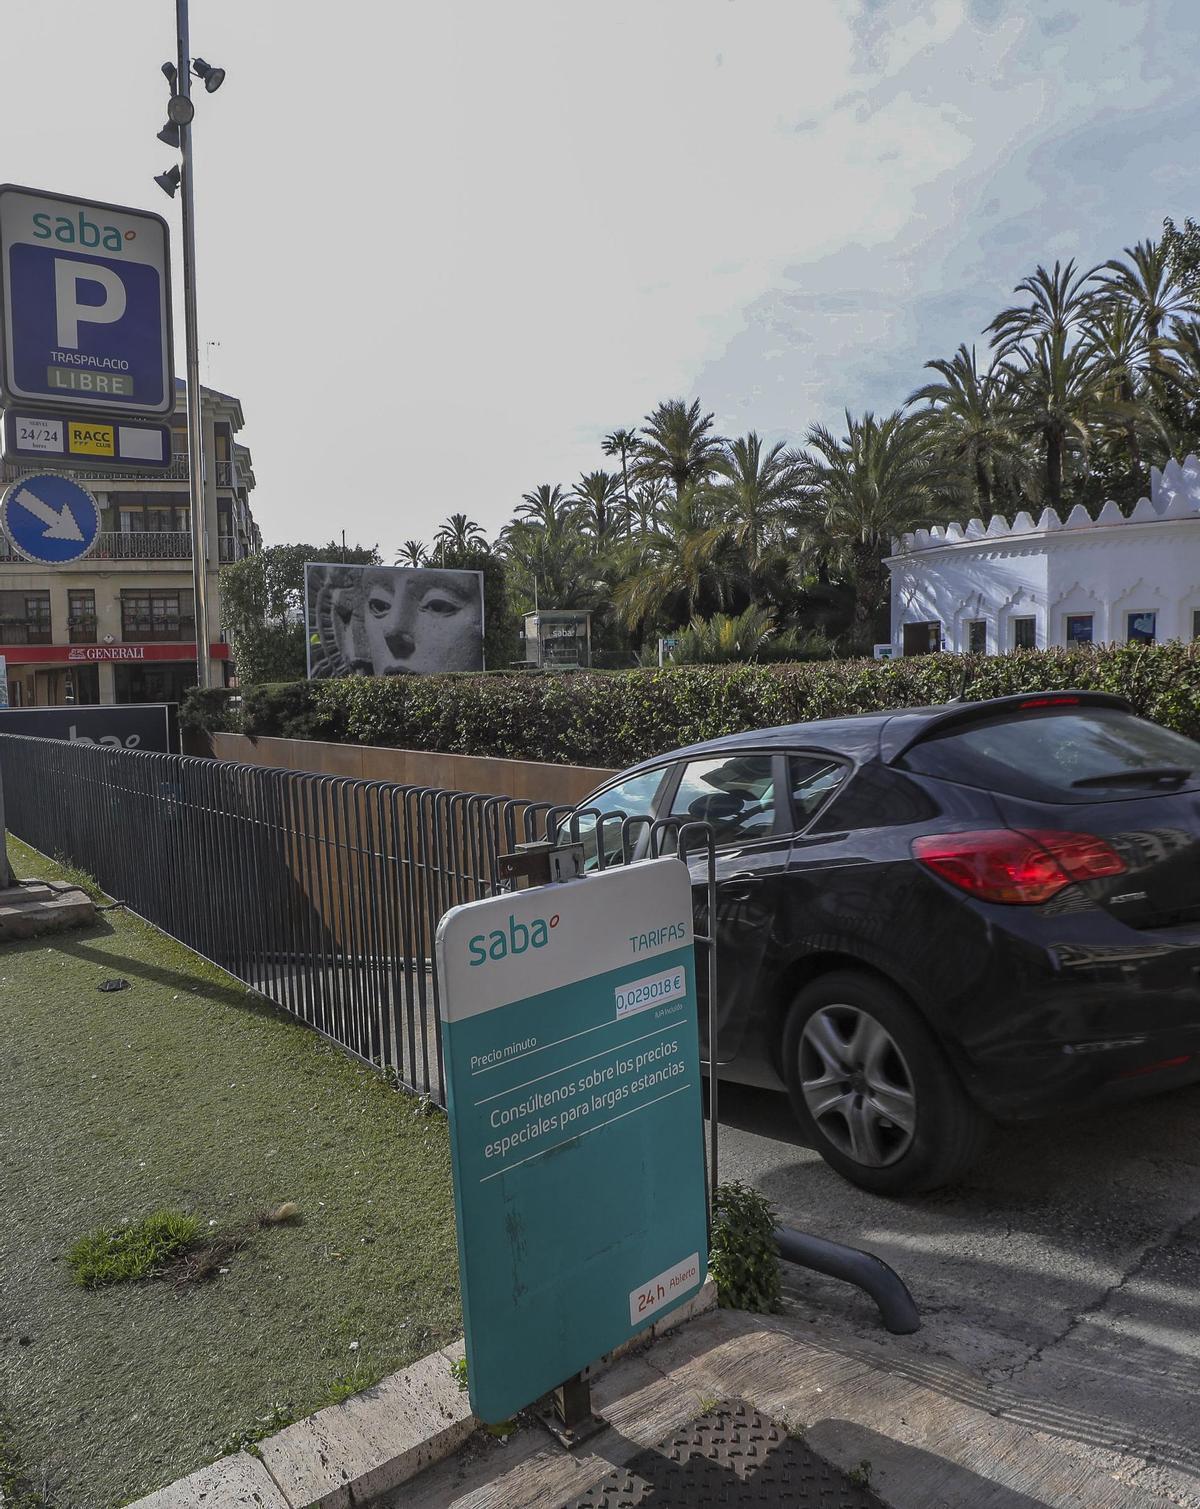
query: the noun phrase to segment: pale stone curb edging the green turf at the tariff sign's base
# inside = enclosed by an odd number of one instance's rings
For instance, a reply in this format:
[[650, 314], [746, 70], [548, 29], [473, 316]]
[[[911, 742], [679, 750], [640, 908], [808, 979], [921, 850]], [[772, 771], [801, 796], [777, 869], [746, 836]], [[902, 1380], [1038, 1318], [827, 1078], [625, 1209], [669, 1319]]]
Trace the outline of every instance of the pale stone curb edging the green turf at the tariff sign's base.
[[[617, 1358], [712, 1310], [709, 1280], [693, 1299], [595, 1363]], [[373, 1388], [139, 1498], [130, 1509], [356, 1509], [456, 1452], [478, 1429], [450, 1366], [462, 1342], [430, 1352]], [[3, 1500], [0, 1498], [0, 1509]]]

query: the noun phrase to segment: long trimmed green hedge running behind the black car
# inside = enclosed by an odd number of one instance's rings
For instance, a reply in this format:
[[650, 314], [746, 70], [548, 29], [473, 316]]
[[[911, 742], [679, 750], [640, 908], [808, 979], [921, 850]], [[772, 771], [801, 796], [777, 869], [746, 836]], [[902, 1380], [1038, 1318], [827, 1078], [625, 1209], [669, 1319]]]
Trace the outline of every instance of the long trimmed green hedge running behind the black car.
[[[1084, 687], [1200, 739], [1200, 644], [922, 655], [897, 661], [679, 665], [568, 675], [394, 676], [287, 682], [245, 693], [242, 732], [551, 761], [629, 765], [697, 739], [965, 694]], [[207, 727], [228, 708], [189, 708]]]

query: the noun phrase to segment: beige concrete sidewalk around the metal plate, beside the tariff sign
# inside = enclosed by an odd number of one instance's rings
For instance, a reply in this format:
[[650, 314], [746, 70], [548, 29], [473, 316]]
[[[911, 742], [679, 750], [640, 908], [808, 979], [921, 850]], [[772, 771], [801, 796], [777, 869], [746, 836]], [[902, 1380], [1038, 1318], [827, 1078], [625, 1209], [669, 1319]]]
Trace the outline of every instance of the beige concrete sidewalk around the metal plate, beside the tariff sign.
[[[872, 1357], [874, 1352], [874, 1357]], [[916, 1360], [916, 1358], [915, 1358]], [[560, 1509], [714, 1402], [744, 1399], [857, 1473], [889, 1509], [1171, 1509], [1076, 1453], [996, 1418], [978, 1381], [794, 1316], [715, 1311], [593, 1384], [608, 1429], [568, 1453], [528, 1426], [485, 1437], [382, 1497], [380, 1509]], [[962, 1376], [958, 1376], [962, 1375]]]

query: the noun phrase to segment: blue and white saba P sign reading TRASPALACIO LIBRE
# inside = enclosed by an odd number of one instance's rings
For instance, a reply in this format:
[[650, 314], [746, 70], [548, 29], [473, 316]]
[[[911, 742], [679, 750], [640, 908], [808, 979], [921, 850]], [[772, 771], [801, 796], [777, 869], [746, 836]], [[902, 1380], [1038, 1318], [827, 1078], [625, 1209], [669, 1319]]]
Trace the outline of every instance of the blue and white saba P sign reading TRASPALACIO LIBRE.
[[0, 186], [0, 392], [149, 415], [175, 407], [162, 216]]

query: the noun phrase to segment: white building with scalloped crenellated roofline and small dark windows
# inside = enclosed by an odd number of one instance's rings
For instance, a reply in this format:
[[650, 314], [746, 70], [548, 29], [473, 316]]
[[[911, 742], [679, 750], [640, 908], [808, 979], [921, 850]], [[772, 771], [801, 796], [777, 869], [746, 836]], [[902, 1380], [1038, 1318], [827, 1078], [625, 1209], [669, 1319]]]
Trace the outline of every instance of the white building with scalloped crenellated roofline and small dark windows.
[[996, 655], [1200, 637], [1200, 460], [1150, 474], [1126, 515], [934, 525], [892, 542], [892, 652]]

